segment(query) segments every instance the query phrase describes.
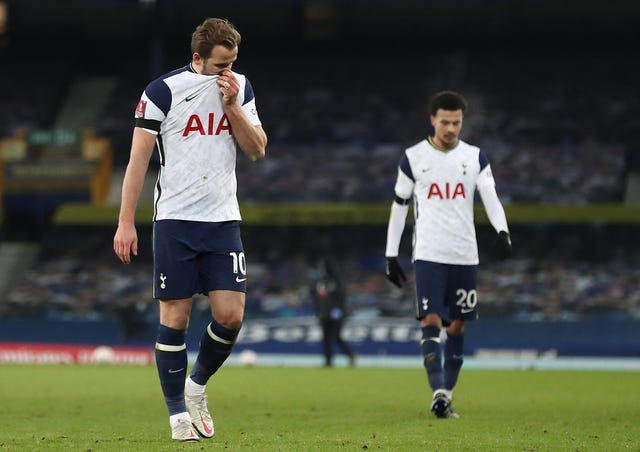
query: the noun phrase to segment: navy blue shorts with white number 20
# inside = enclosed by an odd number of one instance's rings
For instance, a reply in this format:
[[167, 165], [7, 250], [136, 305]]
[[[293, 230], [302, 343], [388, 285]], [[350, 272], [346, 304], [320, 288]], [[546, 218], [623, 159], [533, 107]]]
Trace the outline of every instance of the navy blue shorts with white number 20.
[[477, 265], [415, 261], [416, 318], [438, 314], [444, 320], [475, 320]]

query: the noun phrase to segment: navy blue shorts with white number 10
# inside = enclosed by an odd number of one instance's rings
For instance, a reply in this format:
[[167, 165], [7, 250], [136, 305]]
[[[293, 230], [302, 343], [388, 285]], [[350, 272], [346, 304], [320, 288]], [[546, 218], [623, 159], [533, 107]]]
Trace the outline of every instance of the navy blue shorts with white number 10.
[[247, 291], [247, 263], [237, 221], [153, 223], [153, 297], [191, 298], [210, 290]]

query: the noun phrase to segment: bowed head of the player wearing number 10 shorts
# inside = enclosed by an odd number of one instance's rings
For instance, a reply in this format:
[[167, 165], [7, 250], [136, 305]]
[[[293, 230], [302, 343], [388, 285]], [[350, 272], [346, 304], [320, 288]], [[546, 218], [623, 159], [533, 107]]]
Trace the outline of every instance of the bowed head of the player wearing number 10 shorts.
[[238, 58], [241, 36], [226, 19], [210, 17], [198, 25], [191, 35], [191, 54], [199, 72], [205, 75], [231, 69]]

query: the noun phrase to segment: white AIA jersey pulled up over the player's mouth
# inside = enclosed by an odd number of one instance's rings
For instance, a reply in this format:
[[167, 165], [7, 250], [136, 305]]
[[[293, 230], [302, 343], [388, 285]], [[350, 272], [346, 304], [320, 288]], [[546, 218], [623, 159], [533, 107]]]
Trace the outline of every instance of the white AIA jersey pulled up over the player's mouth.
[[[251, 84], [234, 75], [240, 83], [238, 103], [253, 125], [261, 125]], [[136, 127], [157, 134], [160, 154], [154, 221], [241, 219], [236, 142], [217, 79], [188, 65], [149, 83], [138, 103]]]

